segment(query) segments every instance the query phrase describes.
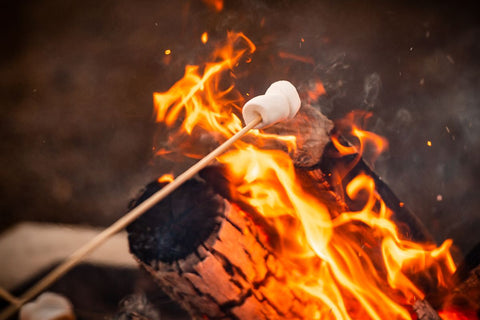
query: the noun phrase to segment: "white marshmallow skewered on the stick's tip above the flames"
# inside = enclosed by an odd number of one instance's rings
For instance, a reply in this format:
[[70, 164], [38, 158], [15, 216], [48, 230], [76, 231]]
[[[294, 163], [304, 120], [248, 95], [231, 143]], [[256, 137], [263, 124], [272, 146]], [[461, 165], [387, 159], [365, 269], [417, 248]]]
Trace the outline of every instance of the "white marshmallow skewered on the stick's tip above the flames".
[[261, 129], [293, 118], [300, 109], [300, 104], [297, 89], [288, 81], [277, 81], [272, 83], [264, 95], [245, 103], [242, 110], [243, 120], [248, 124], [260, 115], [262, 122], [255, 128]]

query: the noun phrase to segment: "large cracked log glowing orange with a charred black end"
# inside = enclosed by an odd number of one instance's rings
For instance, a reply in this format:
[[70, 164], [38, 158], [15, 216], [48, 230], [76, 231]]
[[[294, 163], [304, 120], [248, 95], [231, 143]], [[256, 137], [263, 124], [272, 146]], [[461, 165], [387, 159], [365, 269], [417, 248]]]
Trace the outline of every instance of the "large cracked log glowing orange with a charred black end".
[[[136, 202], [161, 187], [149, 184]], [[127, 228], [139, 264], [193, 319], [312, 318], [314, 299], [285, 285], [286, 270], [259, 230], [199, 180]]]

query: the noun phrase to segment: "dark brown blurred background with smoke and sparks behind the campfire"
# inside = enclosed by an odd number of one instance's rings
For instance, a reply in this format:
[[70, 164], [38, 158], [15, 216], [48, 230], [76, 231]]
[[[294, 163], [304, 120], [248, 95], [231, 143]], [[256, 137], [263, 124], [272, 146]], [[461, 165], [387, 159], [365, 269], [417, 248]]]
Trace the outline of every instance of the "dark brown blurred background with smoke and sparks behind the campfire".
[[235, 30], [257, 45], [242, 92], [278, 79], [305, 92], [319, 80], [327, 94], [315, 103], [331, 119], [373, 112], [370, 129], [390, 141], [377, 173], [438, 241], [464, 253], [480, 241], [480, 25], [469, 3], [1, 6], [0, 230], [22, 220], [107, 226], [125, 213], [164, 173], [152, 161], [152, 93]]

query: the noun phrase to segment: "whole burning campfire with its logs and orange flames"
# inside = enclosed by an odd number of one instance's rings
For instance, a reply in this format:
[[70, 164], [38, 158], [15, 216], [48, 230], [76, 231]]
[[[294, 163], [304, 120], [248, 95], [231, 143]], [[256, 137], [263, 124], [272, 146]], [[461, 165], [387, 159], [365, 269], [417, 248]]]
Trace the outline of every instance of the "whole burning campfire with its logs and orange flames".
[[[157, 160], [188, 166], [242, 130], [252, 94], [235, 71], [255, 49], [229, 33], [210, 62], [154, 94]], [[318, 83], [300, 94], [323, 93]], [[195, 319], [475, 319], [474, 300], [452, 302], [452, 241], [435, 245], [362, 159], [387, 147], [362, 129], [367, 118], [334, 126], [303, 103], [294, 119], [250, 130], [128, 227], [132, 253]]]

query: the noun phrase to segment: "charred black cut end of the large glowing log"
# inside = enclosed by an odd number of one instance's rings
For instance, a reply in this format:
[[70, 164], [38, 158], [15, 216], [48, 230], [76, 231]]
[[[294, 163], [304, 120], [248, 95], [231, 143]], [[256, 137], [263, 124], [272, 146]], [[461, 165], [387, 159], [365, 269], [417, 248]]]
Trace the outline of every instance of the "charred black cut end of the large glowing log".
[[[130, 207], [149, 198], [163, 185], [150, 183]], [[224, 205], [212, 188], [189, 180], [127, 227], [130, 250], [147, 263], [183, 259], [218, 228], [216, 218], [223, 216]]]

